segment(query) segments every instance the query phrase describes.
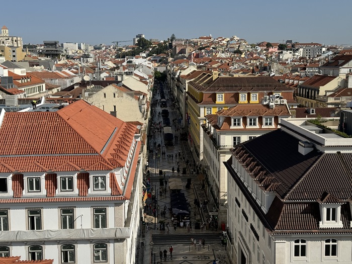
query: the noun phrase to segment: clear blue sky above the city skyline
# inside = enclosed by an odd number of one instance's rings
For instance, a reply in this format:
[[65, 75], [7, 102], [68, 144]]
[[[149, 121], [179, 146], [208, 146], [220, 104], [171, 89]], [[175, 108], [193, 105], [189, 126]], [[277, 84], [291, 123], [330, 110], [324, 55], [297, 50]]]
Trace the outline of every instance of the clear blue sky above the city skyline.
[[[146, 39], [236, 35], [260, 41], [352, 44], [352, 0], [17, 0], [1, 3], [0, 27], [24, 43], [111, 44]], [[121, 43], [121, 44], [129, 44]]]

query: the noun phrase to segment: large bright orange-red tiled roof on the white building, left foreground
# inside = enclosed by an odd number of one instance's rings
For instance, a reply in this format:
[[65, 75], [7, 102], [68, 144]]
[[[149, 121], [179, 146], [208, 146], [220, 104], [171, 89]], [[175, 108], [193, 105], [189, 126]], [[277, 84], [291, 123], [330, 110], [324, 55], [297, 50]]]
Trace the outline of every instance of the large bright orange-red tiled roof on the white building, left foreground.
[[57, 112], [5, 113], [0, 127], [0, 172], [121, 167], [135, 131], [134, 125], [83, 100]]

